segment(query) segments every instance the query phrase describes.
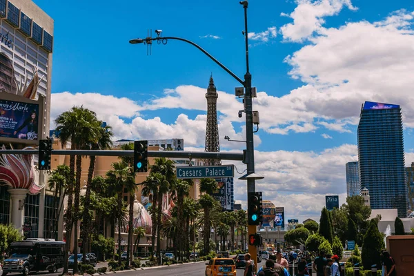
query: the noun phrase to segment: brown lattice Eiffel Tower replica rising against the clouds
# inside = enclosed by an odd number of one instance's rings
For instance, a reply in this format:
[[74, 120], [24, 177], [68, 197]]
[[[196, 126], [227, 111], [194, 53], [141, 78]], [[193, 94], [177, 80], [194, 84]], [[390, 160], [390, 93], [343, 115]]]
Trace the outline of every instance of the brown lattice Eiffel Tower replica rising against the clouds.
[[[219, 152], [219, 126], [217, 124], [217, 89], [214, 85], [213, 75], [210, 76], [208, 83], [206, 99], [207, 99], [207, 126], [206, 126], [206, 152]], [[221, 160], [206, 159], [204, 165], [215, 166], [221, 165]]]

